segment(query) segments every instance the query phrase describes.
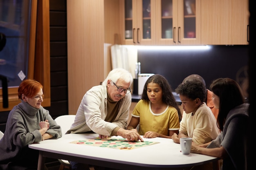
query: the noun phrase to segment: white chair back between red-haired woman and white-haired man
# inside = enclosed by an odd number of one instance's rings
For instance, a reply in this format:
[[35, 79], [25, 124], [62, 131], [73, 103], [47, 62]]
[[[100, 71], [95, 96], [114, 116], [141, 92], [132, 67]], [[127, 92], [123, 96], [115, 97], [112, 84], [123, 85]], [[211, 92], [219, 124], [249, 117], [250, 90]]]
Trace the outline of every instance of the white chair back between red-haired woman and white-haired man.
[[62, 135], [70, 129], [71, 125], [74, 123], [75, 117], [76, 115], [61, 115], [55, 118], [56, 123], [61, 126]]

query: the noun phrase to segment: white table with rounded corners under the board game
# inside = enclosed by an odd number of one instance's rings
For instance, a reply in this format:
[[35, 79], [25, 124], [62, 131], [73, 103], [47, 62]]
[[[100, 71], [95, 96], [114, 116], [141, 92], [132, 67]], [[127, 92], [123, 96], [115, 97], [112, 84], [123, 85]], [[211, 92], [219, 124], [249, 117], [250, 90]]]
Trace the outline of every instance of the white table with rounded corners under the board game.
[[38, 170], [43, 170], [45, 157], [77, 161], [120, 170], [181, 169], [209, 162], [218, 162], [216, 157], [193, 153], [183, 155], [180, 152], [180, 144], [174, 143], [172, 139], [161, 137], [144, 139], [145, 141], [158, 141], [160, 142], [159, 144], [132, 150], [70, 144], [70, 142], [75, 140], [93, 139], [95, 137], [99, 137], [99, 135], [94, 133], [67, 134], [59, 139], [48, 139], [38, 144], [30, 144], [29, 148], [40, 151]]

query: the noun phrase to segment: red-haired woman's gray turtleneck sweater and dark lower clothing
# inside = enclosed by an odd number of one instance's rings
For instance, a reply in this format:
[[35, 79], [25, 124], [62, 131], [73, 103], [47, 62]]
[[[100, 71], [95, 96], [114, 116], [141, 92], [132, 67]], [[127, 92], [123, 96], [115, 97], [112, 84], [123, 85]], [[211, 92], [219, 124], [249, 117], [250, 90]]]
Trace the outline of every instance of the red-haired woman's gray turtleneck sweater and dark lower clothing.
[[38, 151], [28, 148], [28, 145], [42, 140], [39, 123], [46, 119], [49, 121], [46, 133], [52, 135], [52, 139], [60, 138], [61, 127], [42, 106], [37, 109], [21, 100], [20, 104], [13, 107], [0, 140], [1, 170], [23, 170], [37, 166]]

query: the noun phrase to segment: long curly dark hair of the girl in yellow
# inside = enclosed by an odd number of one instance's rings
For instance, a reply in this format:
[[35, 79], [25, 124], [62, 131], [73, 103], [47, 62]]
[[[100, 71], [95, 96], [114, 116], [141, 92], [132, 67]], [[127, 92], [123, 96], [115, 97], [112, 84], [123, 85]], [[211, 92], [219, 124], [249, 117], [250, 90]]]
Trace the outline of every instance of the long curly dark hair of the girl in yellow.
[[162, 100], [163, 100], [163, 102], [168, 104], [169, 106], [173, 106], [174, 108], [176, 108], [176, 110], [178, 111], [179, 119], [181, 121], [182, 114], [180, 112], [179, 105], [177, 104], [176, 99], [173, 96], [171, 85], [168, 83], [168, 80], [165, 77], [163, 77], [162, 75], [159, 75], [159, 74], [152, 75], [147, 79], [147, 81], [144, 85], [144, 88], [143, 88], [141, 99], [149, 102], [150, 100], [148, 99], [148, 95], [147, 95], [148, 83], [158, 84], [162, 88], [162, 91], [163, 91]]

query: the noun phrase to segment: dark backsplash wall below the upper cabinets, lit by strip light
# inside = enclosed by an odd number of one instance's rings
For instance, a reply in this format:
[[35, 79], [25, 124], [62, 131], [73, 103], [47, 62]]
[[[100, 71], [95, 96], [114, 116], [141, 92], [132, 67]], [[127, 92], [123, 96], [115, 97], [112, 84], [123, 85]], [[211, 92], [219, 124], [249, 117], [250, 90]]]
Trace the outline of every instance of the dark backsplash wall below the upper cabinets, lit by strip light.
[[161, 74], [173, 90], [191, 74], [201, 75], [207, 88], [213, 79], [229, 77], [240, 86], [247, 77], [248, 45], [211, 46], [204, 51], [195, 50], [138, 50], [141, 73]]

